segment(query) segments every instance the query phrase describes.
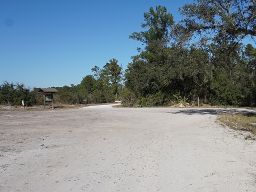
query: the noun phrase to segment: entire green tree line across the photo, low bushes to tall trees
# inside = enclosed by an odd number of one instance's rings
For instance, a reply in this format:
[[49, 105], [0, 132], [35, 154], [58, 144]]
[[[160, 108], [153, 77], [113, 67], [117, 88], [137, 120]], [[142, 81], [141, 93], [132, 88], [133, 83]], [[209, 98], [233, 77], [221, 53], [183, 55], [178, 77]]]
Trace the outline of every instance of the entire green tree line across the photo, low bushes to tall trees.
[[[256, 106], [256, 49], [243, 44], [243, 39], [254, 41], [256, 35], [255, 6], [253, 1], [197, 0], [180, 8], [183, 19], [178, 23], [166, 7], [150, 7], [144, 13], [144, 30], [129, 36], [142, 47], [125, 71], [111, 59], [103, 69], [92, 68], [93, 75], [80, 84], [55, 87], [55, 99], [120, 99], [127, 107], [150, 107], [196, 105], [199, 97], [201, 105]], [[0, 101], [18, 105], [27, 97], [27, 105], [33, 105], [40, 100], [35, 92], [36, 88], [29, 91], [23, 84], [4, 82]]]

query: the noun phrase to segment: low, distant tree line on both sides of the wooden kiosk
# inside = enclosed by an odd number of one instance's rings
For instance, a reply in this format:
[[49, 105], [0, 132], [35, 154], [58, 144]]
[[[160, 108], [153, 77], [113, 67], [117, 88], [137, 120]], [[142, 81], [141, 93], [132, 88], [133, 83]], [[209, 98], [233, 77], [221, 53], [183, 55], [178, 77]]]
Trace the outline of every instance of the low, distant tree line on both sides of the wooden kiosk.
[[[118, 60], [110, 59], [103, 69], [95, 66], [93, 75], [83, 77], [78, 85], [51, 87], [59, 92], [54, 94], [54, 101], [64, 104], [105, 103], [114, 102], [122, 91], [122, 65]], [[0, 85], [0, 103], [7, 105], [21, 105], [25, 101], [26, 106], [42, 105], [43, 95], [37, 94], [39, 88], [33, 90], [24, 84], [3, 82]]]

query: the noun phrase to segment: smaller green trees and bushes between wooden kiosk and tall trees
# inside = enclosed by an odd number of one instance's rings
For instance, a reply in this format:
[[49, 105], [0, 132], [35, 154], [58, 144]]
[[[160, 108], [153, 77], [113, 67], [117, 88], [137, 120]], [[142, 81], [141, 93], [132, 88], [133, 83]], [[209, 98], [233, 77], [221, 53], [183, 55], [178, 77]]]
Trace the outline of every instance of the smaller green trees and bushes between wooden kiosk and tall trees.
[[95, 66], [94, 74], [85, 76], [77, 86], [54, 87], [59, 90], [55, 100], [67, 104], [113, 102], [122, 87], [122, 67], [117, 62], [111, 59], [103, 69]]

